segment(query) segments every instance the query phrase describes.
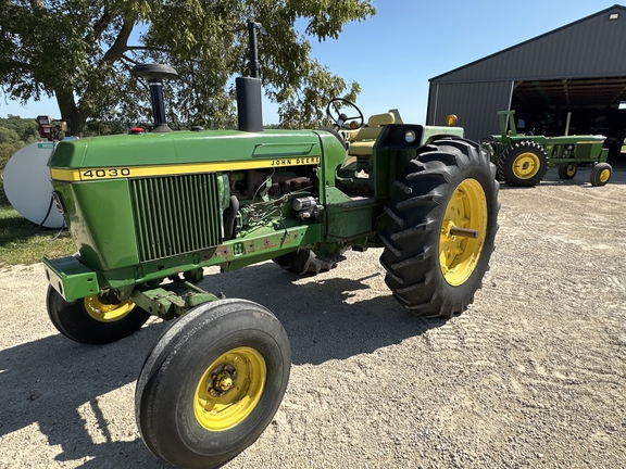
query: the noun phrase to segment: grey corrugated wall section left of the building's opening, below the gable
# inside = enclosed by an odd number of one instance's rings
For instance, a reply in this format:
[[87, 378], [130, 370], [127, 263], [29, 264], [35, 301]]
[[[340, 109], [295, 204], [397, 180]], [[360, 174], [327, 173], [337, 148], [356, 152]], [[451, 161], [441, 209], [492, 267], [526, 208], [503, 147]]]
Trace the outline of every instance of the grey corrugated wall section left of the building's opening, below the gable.
[[498, 134], [498, 111], [509, 110], [512, 88], [511, 81], [431, 83], [426, 122], [428, 125], [446, 125], [446, 116], [454, 114], [468, 139], [480, 140]]

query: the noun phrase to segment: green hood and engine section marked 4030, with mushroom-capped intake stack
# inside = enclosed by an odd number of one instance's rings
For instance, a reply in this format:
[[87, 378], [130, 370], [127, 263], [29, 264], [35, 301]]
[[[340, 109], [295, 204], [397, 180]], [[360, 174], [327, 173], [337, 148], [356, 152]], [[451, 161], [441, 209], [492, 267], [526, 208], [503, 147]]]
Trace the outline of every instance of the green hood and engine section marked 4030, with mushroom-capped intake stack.
[[[79, 252], [79, 262], [45, 261], [66, 301], [99, 290], [122, 301], [138, 283], [198, 280], [203, 266], [240, 268], [318, 242], [320, 187], [335, 186], [346, 153], [336, 136], [258, 131], [253, 78], [238, 78], [238, 130], [173, 132], [162, 80], [175, 71], [136, 68], [150, 85], [153, 130], [61, 141], [49, 161], [53, 198]], [[85, 275], [67, 279], [67, 268]]]

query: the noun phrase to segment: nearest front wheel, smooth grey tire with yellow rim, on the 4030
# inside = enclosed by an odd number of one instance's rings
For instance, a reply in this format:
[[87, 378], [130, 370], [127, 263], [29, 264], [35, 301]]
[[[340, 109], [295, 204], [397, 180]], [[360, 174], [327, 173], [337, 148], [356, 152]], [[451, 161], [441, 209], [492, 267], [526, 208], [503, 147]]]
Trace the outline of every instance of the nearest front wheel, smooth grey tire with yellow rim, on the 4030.
[[141, 369], [141, 438], [173, 466], [221, 466], [270, 424], [290, 367], [285, 329], [263, 306], [236, 299], [200, 305], [164, 332]]

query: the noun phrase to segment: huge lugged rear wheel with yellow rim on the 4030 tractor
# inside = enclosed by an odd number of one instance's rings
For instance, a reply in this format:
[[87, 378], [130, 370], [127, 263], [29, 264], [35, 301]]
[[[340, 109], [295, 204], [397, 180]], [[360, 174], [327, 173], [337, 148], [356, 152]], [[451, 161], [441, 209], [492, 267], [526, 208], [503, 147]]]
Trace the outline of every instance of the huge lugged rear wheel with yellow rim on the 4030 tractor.
[[498, 190], [476, 143], [451, 138], [417, 150], [393, 183], [381, 232], [385, 282], [401, 304], [451, 317], [474, 301], [493, 252]]

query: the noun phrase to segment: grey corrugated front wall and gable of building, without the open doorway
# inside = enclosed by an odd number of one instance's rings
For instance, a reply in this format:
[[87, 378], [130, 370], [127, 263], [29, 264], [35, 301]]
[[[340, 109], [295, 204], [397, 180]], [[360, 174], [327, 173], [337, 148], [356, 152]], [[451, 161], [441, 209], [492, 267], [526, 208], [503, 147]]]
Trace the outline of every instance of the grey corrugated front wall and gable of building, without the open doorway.
[[[617, 20], [609, 20], [618, 13]], [[615, 5], [430, 79], [426, 124], [459, 116], [466, 136], [499, 131], [516, 80], [626, 76], [626, 8]]]

